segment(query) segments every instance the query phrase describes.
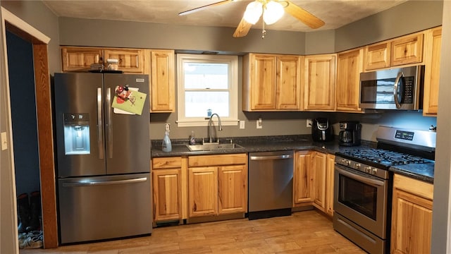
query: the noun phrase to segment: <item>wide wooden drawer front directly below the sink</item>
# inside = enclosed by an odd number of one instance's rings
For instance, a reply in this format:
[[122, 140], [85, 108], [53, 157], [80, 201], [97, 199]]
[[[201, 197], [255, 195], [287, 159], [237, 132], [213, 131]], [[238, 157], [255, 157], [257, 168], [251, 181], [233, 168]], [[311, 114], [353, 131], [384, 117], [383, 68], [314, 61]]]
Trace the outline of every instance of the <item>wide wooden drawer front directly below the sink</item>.
[[209, 167], [233, 164], [246, 164], [246, 154], [199, 155], [188, 157], [188, 167]]

